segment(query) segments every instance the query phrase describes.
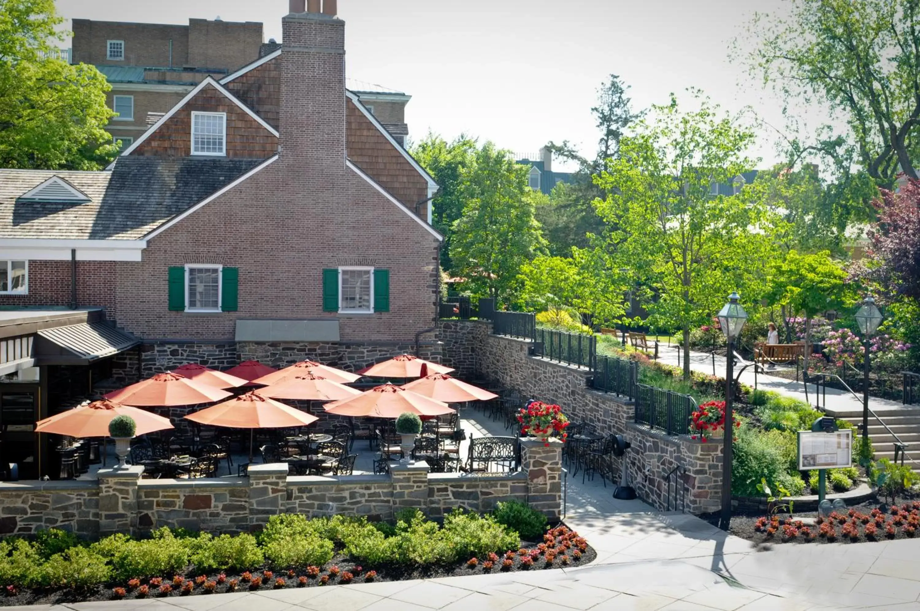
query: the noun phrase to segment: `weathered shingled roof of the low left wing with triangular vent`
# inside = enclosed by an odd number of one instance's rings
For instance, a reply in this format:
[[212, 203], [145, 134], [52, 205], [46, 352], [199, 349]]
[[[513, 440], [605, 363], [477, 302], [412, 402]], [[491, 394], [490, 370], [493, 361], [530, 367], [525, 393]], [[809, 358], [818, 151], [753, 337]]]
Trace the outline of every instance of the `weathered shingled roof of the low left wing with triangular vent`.
[[[262, 163], [127, 156], [104, 172], [0, 169], [0, 237], [141, 239]], [[52, 176], [67, 180], [91, 202], [17, 202]]]

